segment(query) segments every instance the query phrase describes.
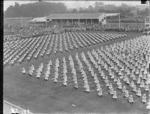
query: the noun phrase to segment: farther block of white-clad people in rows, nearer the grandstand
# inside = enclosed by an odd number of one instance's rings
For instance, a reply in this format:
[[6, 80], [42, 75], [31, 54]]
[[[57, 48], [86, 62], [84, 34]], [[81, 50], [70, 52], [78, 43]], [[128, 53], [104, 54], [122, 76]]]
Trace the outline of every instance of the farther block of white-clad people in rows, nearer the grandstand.
[[13, 40], [4, 43], [4, 65], [22, 63], [38, 57], [68, 52], [125, 37], [126, 34], [67, 32]]

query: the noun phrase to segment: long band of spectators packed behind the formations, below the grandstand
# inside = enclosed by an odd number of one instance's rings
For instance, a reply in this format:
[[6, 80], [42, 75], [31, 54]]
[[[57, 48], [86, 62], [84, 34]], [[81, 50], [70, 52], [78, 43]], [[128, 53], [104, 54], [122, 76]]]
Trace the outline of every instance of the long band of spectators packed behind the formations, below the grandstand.
[[[122, 31], [122, 32], [143, 32], [144, 23], [106, 23], [100, 24], [5, 24], [4, 40], [9, 36], [29, 38], [45, 34], [55, 34], [71, 31]], [[8, 36], [8, 37], [7, 37]]]

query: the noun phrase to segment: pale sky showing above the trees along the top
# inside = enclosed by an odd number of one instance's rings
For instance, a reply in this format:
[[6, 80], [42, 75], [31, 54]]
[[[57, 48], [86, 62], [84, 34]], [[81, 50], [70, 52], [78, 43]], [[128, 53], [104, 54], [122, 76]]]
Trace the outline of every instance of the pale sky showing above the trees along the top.
[[[37, 0], [38, 1], [38, 0]], [[36, 0], [35, 1], [14, 1], [14, 0], [7, 0], [7, 1], [4, 1], [4, 9], [3, 11], [6, 11], [6, 9], [11, 6], [11, 5], [15, 5], [15, 2], [19, 3], [19, 4], [27, 4], [27, 3], [34, 3], [34, 2], [37, 2]], [[55, 2], [55, 3], [58, 3], [58, 2], [62, 2], [62, 3], [65, 3], [65, 5], [68, 7], [68, 8], [87, 8], [89, 5], [94, 5], [94, 3], [96, 1], [49, 1], [49, 2]], [[132, 5], [132, 6], [135, 6], [135, 5], [141, 5], [141, 2], [140, 1], [101, 1], [103, 2], [104, 4], [115, 4], [116, 6], [119, 6], [121, 5], [122, 3], [125, 3], [127, 5]]]

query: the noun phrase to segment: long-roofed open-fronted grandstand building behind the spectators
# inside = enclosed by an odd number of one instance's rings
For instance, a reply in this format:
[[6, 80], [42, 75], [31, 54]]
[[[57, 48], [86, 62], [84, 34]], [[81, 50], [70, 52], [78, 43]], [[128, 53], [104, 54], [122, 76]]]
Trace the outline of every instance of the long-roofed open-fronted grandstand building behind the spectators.
[[109, 16], [117, 16], [119, 13], [68, 13], [50, 14], [47, 20], [56, 23], [102, 23]]

